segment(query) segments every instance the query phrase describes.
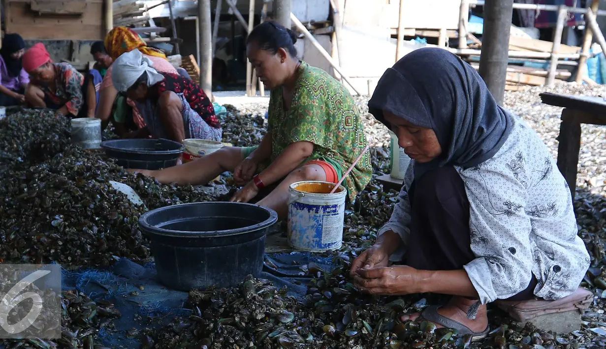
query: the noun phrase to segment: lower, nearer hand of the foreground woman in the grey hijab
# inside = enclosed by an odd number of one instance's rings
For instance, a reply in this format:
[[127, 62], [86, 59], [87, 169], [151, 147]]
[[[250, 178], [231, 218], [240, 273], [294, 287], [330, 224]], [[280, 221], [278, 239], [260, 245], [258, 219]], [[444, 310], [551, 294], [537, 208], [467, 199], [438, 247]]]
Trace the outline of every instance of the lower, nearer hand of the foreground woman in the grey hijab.
[[410, 295], [420, 293], [419, 270], [409, 266], [358, 269], [354, 284], [371, 295]]

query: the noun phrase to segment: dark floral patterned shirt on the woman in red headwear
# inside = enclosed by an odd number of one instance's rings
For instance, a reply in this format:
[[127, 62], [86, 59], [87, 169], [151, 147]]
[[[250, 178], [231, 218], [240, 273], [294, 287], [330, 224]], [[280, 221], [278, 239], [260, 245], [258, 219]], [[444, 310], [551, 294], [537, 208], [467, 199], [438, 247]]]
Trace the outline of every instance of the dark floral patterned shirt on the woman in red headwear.
[[44, 94], [56, 105], [67, 107], [67, 111], [77, 116], [84, 100], [82, 99], [82, 85], [84, 76], [68, 63], [55, 63], [55, 89], [53, 92], [48, 85], [41, 86]]

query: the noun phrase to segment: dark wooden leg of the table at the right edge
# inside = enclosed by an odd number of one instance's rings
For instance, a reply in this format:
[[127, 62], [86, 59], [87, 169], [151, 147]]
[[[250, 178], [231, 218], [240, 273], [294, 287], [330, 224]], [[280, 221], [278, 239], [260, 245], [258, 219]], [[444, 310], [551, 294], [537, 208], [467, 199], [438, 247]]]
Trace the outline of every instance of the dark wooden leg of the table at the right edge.
[[562, 123], [558, 135], [558, 169], [564, 176], [574, 201], [579, 150], [581, 149], [581, 123], [574, 121], [574, 111], [562, 110]]

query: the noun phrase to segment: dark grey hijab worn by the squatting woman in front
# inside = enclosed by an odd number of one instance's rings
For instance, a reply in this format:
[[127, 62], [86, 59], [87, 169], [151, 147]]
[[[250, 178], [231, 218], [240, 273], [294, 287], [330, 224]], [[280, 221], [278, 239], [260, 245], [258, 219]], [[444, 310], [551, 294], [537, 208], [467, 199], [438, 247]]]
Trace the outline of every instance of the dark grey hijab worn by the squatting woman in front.
[[385, 71], [368, 109], [387, 127], [383, 111], [436, 133], [442, 154], [415, 162], [416, 179], [442, 166], [479, 165], [499, 151], [513, 127], [476, 70], [442, 48], [415, 50]]

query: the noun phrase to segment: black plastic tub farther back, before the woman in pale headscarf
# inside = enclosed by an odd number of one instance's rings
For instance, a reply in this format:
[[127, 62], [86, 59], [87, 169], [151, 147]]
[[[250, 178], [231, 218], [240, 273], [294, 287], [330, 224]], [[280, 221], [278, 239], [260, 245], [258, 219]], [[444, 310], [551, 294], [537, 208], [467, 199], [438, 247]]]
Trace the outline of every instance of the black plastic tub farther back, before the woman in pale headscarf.
[[168, 139], [114, 139], [101, 142], [101, 148], [124, 168], [161, 169], [175, 166], [185, 146]]

